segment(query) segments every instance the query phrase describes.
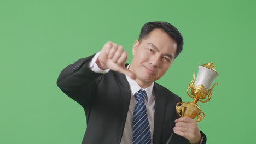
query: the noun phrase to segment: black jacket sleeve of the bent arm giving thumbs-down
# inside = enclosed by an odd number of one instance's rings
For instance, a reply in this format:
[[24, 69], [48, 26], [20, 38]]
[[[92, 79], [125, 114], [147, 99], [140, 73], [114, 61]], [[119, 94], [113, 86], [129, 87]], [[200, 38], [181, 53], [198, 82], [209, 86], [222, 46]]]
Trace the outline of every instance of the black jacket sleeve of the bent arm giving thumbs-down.
[[103, 75], [89, 69], [93, 57], [94, 55], [82, 58], [68, 65], [57, 79], [57, 86], [61, 91], [84, 108], [90, 106], [95, 99], [97, 85]]

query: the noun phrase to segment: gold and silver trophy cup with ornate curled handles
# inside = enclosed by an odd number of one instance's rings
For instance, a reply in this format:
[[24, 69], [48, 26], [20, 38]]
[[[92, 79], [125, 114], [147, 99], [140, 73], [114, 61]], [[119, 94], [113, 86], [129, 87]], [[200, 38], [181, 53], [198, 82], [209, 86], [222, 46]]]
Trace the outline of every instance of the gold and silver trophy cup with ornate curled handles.
[[[210, 89], [212, 82], [214, 79], [218, 76], [219, 74], [217, 73], [213, 62], [211, 63], [206, 63], [205, 65], [199, 65], [199, 70], [198, 74], [195, 80], [195, 73], [193, 72], [193, 79], [190, 82], [188, 88], [187, 88], [187, 93], [190, 98], [193, 98], [193, 102], [188, 102], [188, 103], [177, 103], [176, 105], [176, 111], [179, 116], [184, 117], [190, 117], [192, 119], [196, 118], [196, 122], [200, 122], [204, 117], [205, 113], [202, 112], [202, 110], [199, 108], [199, 106], [196, 104], [197, 101], [200, 101], [202, 103], [206, 103], [209, 101], [212, 97], [212, 91], [213, 88], [218, 85], [218, 83], [214, 83], [212, 88]], [[191, 95], [189, 93], [189, 89], [191, 88]], [[207, 100], [203, 100], [207, 97]], [[182, 114], [181, 114], [182, 113]]]

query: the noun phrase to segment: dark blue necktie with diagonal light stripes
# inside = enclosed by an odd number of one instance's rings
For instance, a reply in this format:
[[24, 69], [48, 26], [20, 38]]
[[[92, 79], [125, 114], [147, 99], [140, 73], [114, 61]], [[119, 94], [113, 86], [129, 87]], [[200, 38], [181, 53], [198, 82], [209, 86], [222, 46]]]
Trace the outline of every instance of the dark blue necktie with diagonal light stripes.
[[150, 144], [151, 133], [148, 122], [148, 114], [144, 99], [147, 97], [147, 93], [143, 90], [139, 90], [135, 94], [137, 104], [133, 112], [132, 122], [132, 144]]

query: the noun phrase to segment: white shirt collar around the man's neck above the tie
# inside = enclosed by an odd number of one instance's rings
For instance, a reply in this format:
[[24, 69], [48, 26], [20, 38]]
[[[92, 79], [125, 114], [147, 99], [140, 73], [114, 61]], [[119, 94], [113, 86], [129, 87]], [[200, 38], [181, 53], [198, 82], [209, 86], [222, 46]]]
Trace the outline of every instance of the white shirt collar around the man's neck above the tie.
[[[126, 68], [129, 68], [129, 67], [130, 67], [130, 64]], [[146, 99], [149, 101], [151, 96], [152, 96], [152, 91], [153, 91], [153, 87], [154, 87], [155, 82], [153, 82], [147, 88], [142, 88], [141, 86], [138, 85], [138, 83], [135, 80], [131, 79], [131, 77], [129, 77], [127, 75], [125, 75], [125, 76], [126, 76], [126, 79], [127, 79], [128, 83], [130, 85], [131, 94], [135, 95], [135, 93], [137, 93], [139, 90], [142, 89], [142, 90], [146, 91], [146, 93], [147, 93], [147, 98]]]

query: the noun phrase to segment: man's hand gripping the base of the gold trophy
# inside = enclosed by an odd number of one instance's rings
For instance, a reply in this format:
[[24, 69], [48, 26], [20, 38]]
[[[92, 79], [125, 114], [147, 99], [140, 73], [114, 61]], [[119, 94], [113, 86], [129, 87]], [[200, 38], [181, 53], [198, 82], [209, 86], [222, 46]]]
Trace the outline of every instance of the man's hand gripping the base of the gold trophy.
[[174, 133], [181, 135], [189, 140], [189, 143], [199, 143], [201, 133], [197, 123], [190, 117], [181, 117], [175, 120]]

